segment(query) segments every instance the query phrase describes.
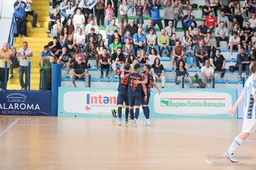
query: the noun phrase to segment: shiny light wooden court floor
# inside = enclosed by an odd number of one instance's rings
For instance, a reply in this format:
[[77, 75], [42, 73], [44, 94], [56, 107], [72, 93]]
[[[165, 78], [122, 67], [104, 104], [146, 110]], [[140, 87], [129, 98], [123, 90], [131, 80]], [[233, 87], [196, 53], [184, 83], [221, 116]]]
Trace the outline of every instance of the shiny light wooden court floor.
[[0, 116], [0, 169], [256, 169], [256, 135], [222, 154], [241, 131], [236, 119], [151, 119], [138, 127], [114, 118]]

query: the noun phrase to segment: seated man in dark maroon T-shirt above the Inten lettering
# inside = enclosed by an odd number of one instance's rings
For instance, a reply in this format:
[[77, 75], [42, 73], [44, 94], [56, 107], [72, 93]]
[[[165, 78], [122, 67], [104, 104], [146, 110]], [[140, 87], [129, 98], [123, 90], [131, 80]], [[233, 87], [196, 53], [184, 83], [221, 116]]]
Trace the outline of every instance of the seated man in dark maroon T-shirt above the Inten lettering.
[[100, 78], [103, 78], [104, 69], [106, 69], [106, 76], [109, 78], [108, 73], [110, 69], [110, 55], [108, 54], [108, 49], [103, 47], [102, 54], [99, 55], [99, 63], [100, 63]]

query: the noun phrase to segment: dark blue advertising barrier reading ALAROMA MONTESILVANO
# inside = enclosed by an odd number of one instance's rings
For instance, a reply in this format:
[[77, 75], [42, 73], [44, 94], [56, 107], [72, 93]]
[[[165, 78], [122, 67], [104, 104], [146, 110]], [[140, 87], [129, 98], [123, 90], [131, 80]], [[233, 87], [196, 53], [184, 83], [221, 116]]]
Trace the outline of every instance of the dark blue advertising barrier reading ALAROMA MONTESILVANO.
[[0, 92], [0, 115], [50, 115], [50, 91]]

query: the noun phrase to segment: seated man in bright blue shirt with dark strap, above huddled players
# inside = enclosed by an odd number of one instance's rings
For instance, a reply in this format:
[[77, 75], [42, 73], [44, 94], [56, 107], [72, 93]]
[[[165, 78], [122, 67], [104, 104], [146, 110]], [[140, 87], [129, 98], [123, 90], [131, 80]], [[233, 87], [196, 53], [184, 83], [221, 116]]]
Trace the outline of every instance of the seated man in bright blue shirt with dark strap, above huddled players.
[[142, 33], [142, 28], [138, 28], [138, 33], [133, 35], [133, 44], [135, 47], [135, 55], [137, 56], [138, 48], [147, 50], [146, 35]]

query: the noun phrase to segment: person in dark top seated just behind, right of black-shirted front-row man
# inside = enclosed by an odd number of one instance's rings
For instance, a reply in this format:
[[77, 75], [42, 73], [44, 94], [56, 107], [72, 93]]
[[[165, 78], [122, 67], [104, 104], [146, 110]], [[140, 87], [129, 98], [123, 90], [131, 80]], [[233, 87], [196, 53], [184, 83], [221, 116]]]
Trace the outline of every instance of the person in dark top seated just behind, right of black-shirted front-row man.
[[[89, 42], [86, 45], [86, 63], [88, 63], [89, 58], [96, 59], [96, 67], [99, 69], [99, 55], [97, 54], [97, 45], [94, 44], [94, 37], [91, 36]], [[95, 67], [95, 66], [94, 66]]]

